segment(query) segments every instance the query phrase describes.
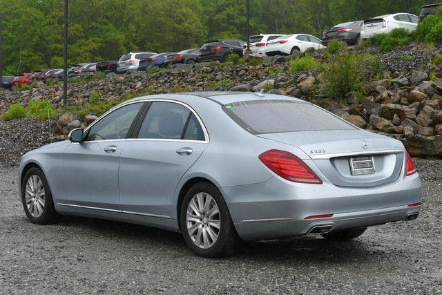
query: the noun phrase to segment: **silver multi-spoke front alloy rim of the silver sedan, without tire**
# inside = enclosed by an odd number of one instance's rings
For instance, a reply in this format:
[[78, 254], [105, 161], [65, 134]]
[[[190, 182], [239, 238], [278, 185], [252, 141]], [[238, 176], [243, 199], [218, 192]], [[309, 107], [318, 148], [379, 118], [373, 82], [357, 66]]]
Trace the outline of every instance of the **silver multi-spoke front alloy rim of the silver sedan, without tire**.
[[31, 175], [26, 182], [25, 200], [32, 217], [39, 218], [43, 214], [45, 196], [43, 182], [38, 175]]

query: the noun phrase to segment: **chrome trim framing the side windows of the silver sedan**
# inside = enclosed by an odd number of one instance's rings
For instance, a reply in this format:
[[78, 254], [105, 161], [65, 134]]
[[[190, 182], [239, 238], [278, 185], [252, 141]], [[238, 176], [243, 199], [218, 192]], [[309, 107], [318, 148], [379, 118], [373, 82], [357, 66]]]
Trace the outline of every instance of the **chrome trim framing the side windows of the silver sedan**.
[[[193, 113], [193, 115], [195, 115], [195, 117], [197, 118], [198, 122], [200, 123], [200, 126], [202, 128], [202, 132], [204, 133], [204, 140], [179, 140], [179, 139], [158, 139], [158, 138], [122, 138], [122, 139], [115, 139], [115, 140], [89, 140], [89, 141], [81, 142], [81, 143], [88, 143], [88, 142], [112, 142], [112, 141], [120, 141], [120, 140], [145, 140], [145, 141], [160, 141], [160, 142], [170, 142], [170, 141], [172, 141], [172, 142], [188, 142], [188, 143], [204, 143], [204, 144], [209, 144], [209, 142], [210, 142], [209, 132], [207, 132], [206, 126], [202, 122], [202, 120], [200, 118], [200, 115], [198, 115], [198, 113], [196, 113], [196, 111], [191, 106], [189, 106], [188, 104], [185, 104], [184, 102], [179, 102], [179, 101], [174, 100], [174, 99], [144, 98], [144, 99], [137, 99], [137, 100], [132, 101], [132, 102], [122, 103], [121, 105], [118, 105], [118, 106], [114, 106], [109, 111], [104, 113], [101, 117], [99, 117], [97, 120], [95, 120], [92, 124], [87, 126], [86, 129], [84, 129], [84, 133], [87, 133], [89, 131], [89, 129], [91, 129], [95, 124], [97, 124], [97, 122], [99, 122], [99, 120], [102, 120], [104, 117], [106, 117], [107, 115], [109, 115], [113, 111], [116, 111], [117, 109], [122, 108], [123, 106], [128, 106], [129, 104], [137, 104], [137, 103], [140, 103], [140, 102], [142, 102], [142, 103], [145, 103], [145, 102], [171, 102], [171, 103], [174, 103], [174, 104], [180, 104], [180, 105], [188, 108], [189, 111], [191, 111]], [[147, 113], [146, 113], [146, 115], [147, 115]], [[79, 143], [78, 142], [71, 142], [71, 144], [79, 144]]]

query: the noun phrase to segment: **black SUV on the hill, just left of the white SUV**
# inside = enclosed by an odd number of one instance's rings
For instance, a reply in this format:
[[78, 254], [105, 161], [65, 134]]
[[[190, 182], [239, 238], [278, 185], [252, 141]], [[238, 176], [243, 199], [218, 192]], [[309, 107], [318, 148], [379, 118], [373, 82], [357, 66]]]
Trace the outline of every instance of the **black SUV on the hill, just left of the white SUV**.
[[237, 53], [242, 57], [242, 45], [245, 41], [240, 39], [218, 39], [206, 42], [200, 48], [199, 62], [204, 61], [226, 61], [227, 56]]

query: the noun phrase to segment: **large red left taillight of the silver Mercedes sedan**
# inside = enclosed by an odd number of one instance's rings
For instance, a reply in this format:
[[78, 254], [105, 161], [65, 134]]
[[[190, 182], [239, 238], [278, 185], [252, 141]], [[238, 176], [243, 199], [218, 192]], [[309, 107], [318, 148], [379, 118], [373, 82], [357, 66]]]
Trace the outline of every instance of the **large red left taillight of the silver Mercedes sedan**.
[[291, 182], [322, 184], [318, 175], [296, 155], [272, 149], [260, 154], [259, 159], [271, 171]]

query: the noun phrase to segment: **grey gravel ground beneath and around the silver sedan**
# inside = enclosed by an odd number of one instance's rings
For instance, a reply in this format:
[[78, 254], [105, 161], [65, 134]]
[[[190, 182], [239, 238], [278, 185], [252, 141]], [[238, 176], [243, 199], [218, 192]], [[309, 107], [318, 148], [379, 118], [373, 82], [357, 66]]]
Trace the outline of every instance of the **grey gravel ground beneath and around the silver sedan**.
[[441, 293], [442, 161], [416, 164], [424, 183], [418, 220], [347, 243], [250, 242], [215, 260], [159, 229], [75, 217], [33, 225], [17, 200], [16, 169], [0, 168], [0, 293]]

